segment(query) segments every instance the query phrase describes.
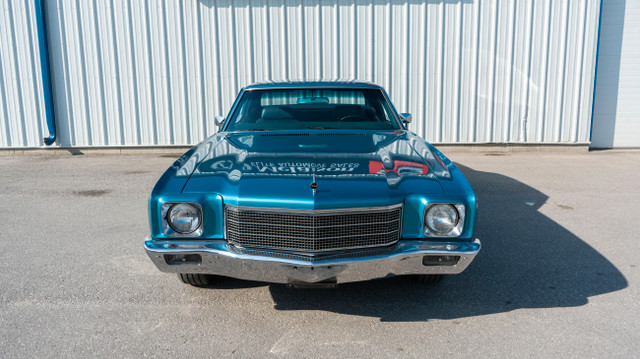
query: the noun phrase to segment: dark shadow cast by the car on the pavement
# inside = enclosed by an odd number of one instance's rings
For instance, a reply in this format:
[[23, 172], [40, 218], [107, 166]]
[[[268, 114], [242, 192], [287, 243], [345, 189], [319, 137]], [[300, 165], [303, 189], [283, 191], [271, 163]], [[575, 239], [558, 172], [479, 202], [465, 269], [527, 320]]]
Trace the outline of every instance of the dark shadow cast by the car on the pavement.
[[271, 285], [277, 310], [325, 310], [381, 321], [455, 319], [518, 308], [581, 306], [627, 287], [604, 256], [538, 209], [544, 193], [513, 178], [458, 165], [479, 202], [482, 250], [462, 274], [436, 285], [397, 277], [335, 289]]

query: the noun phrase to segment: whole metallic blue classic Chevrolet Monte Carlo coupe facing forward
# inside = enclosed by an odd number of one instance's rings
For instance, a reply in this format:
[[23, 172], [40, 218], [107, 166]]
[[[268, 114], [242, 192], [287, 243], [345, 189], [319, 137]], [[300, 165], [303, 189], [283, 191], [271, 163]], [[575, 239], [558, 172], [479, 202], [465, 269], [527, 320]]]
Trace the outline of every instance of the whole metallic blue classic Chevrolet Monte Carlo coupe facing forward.
[[156, 184], [145, 249], [195, 286], [460, 273], [480, 250], [476, 197], [410, 121], [373, 84], [246, 87]]

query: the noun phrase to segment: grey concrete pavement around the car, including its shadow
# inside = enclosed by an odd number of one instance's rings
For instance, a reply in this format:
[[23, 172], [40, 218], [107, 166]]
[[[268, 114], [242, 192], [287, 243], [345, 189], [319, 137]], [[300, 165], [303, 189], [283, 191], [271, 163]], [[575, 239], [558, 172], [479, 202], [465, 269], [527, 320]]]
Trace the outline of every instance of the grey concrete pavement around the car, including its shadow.
[[636, 357], [640, 152], [454, 152], [483, 249], [435, 286], [160, 273], [146, 200], [178, 155], [0, 157], [0, 357]]

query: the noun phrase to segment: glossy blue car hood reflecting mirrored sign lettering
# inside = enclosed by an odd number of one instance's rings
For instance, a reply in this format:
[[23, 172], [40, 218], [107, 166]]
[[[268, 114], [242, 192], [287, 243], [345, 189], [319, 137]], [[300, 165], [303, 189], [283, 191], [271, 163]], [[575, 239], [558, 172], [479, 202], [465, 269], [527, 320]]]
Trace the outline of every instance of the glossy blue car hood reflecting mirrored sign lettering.
[[401, 203], [410, 193], [442, 193], [440, 179], [449, 176], [425, 142], [406, 131], [221, 133], [200, 144], [178, 173], [190, 176], [184, 193], [296, 209]]

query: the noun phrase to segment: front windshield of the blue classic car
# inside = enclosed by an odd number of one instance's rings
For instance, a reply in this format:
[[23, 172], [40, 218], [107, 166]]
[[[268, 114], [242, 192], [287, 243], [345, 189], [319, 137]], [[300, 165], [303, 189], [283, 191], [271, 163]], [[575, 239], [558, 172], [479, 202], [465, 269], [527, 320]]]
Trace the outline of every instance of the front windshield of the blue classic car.
[[274, 89], [245, 92], [227, 131], [399, 128], [380, 90]]

